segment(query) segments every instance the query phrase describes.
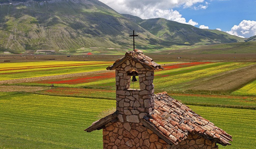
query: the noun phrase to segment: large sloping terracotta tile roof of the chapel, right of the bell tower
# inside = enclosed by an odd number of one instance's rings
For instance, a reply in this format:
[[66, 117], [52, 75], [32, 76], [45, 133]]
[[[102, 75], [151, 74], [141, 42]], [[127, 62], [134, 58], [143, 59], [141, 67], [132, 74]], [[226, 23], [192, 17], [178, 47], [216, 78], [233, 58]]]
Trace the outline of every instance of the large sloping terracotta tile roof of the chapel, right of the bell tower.
[[144, 119], [174, 144], [178, 144], [192, 133], [224, 146], [231, 145], [229, 143], [232, 141], [231, 135], [173, 99], [166, 92], [158, 93], [154, 98], [154, 114], [149, 117], [144, 116]]

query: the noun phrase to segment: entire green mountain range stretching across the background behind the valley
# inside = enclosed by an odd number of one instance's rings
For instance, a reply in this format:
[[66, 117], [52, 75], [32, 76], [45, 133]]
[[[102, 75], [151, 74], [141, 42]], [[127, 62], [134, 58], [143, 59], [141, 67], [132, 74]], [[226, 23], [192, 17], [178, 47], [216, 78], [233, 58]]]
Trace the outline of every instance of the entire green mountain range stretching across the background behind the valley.
[[[245, 42], [219, 30], [200, 29], [164, 18], [120, 14], [98, 0], [0, 0], [0, 52], [70, 52], [83, 47], [168, 48]], [[253, 37], [251, 37], [252, 40]]]

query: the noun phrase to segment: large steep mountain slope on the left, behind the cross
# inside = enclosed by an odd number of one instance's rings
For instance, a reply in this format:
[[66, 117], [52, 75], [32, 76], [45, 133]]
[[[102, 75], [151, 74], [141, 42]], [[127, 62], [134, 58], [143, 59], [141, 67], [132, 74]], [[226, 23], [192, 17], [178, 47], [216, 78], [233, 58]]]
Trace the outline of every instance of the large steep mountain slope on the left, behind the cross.
[[[1, 0], [0, 50], [74, 50], [156, 44], [156, 36], [97, 0]], [[23, 3], [21, 3], [23, 2]]]

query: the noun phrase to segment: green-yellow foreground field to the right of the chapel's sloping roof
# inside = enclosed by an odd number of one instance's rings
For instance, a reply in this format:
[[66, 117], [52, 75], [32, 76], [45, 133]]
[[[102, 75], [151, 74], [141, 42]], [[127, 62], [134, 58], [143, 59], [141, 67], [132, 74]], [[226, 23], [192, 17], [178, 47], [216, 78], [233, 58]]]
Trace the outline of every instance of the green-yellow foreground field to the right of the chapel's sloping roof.
[[255, 110], [189, 106], [202, 117], [232, 135], [231, 146], [219, 148], [255, 148]]

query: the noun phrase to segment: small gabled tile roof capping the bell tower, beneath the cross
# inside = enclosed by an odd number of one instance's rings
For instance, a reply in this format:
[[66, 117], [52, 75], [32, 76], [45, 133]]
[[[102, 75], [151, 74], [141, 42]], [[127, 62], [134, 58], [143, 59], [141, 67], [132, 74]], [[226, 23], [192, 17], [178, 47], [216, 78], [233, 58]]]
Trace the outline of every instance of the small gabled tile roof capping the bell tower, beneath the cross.
[[114, 70], [116, 67], [121, 65], [123, 62], [125, 62], [129, 58], [133, 59], [136, 62], [141, 63], [143, 66], [145, 66], [147, 68], [150, 68], [150, 69], [154, 69], [154, 70], [158, 70], [160, 68], [164, 69], [163, 67], [161, 67], [161, 65], [154, 62], [152, 58], [144, 55], [143, 51], [137, 50], [137, 49], [126, 52], [124, 57], [122, 57], [121, 59], [116, 60], [113, 63], [112, 66], [109, 66], [106, 69], [107, 70]]

